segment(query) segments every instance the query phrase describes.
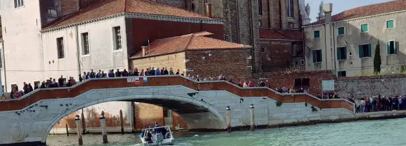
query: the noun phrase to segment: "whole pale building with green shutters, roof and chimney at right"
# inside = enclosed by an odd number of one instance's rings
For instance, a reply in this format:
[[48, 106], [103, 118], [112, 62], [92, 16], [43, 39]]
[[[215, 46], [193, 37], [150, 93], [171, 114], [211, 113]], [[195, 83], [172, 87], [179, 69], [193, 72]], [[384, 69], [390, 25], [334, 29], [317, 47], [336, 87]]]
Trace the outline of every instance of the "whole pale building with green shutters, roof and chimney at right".
[[[303, 26], [306, 70], [333, 70], [337, 76], [373, 74], [379, 42], [382, 72], [406, 65], [406, 0], [377, 3], [331, 16]], [[384, 71], [386, 70], [386, 71]]]

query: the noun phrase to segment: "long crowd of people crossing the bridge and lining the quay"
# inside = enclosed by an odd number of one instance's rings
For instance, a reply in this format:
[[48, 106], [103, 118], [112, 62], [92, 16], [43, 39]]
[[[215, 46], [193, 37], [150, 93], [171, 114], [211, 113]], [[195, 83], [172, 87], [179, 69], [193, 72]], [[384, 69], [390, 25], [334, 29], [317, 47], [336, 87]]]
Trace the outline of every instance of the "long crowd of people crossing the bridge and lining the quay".
[[[83, 72], [83, 74], [79, 74], [79, 82], [85, 81], [86, 79], [92, 79], [92, 78], [113, 78], [113, 77], [119, 77], [119, 76], [159, 76], [159, 75], [173, 75], [173, 74], [178, 74], [184, 76], [184, 72], [180, 73], [180, 70], [176, 70], [176, 72], [173, 70], [173, 68], [169, 68], [169, 70], [166, 67], [162, 68], [154, 68], [154, 67], [149, 67], [147, 69], [142, 69], [138, 70], [138, 68], [135, 68], [134, 70], [118, 70], [114, 72], [114, 70], [109, 70], [108, 73], [105, 73], [101, 70], [99, 72], [94, 72], [91, 70], [90, 72]], [[233, 79], [226, 79], [226, 76], [223, 74], [220, 74], [217, 78], [215, 76], [208, 76], [208, 77], [201, 77], [201, 76], [191, 76], [188, 74], [186, 76], [188, 79], [193, 79], [195, 81], [215, 81], [215, 80], [224, 80], [224, 81], [229, 81], [231, 83], [234, 83], [235, 85], [238, 85], [242, 88], [245, 87], [266, 87], [267, 83], [266, 81], [258, 81], [257, 83], [252, 83], [252, 81], [245, 81], [245, 80], [240, 80], [238, 81], [233, 81]], [[33, 86], [31, 86], [31, 83], [23, 83], [23, 88], [22, 90], [19, 90], [18, 86], [13, 86], [13, 90], [10, 94], [10, 98], [19, 98], [29, 92], [32, 92], [38, 88], [59, 88], [59, 87], [70, 87], [76, 84], [75, 79], [73, 76], [68, 77], [68, 81], [64, 78], [64, 76], [60, 76], [59, 79], [48, 79], [47, 81], [43, 81], [41, 84], [36, 83]], [[294, 89], [294, 88], [275, 88], [277, 92], [280, 93], [295, 93], [295, 92], [305, 92], [303, 88], [299, 89]], [[317, 97], [321, 98], [329, 98], [329, 99], [336, 99], [336, 98], [341, 98], [338, 97], [338, 95], [335, 94], [329, 94], [325, 95], [324, 97], [321, 97], [319, 94]], [[1, 99], [5, 99], [4, 95], [1, 97]], [[356, 112], [357, 113], [364, 113], [364, 112], [374, 112], [374, 111], [392, 111], [392, 110], [406, 110], [406, 95], [405, 96], [396, 96], [396, 97], [385, 97], [379, 95], [379, 97], [364, 97], [364, 98], [355, 98], [355, 97], [349, 97], [347, 98], [350, 102], [353, 102], [356, 105]]]

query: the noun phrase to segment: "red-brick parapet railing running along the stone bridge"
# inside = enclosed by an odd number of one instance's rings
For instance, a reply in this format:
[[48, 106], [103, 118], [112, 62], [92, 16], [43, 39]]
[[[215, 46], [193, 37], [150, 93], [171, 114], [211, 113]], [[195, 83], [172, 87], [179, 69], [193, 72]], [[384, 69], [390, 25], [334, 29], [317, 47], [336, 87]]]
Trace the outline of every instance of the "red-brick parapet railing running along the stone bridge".
[[[61, 88], [39, 88], [38, 90], [34, 90], [33, 92], [29, 92], [26, 95], [23, 95], [22, 97], [18, 99], [6, 99], [6, 100], [1, 100], [1, 102], [18, 102], [22, 99], [26, 99], [31, 97], [32, 95], [36, 94], [37, 92], [41, 91], [47, 91], [47, 90], [73, 90], [75, 88], [83, 86], [85, 83], [88, 83], [89, 81], [98, 81], [98, 80], [120, 80], [120, 79], [129, 79], [129, 78], [143, 78], [147, 77], [148, 79], [155, 79], [155, 78], [168, 78], [168, 77], [173, 77], [175, 78], [182, 78], [184, 79], [183, 82], [191, 82], [196, 86], [195, 90], [201, 90], [198, 88], [205, 88], [202, 90], [227, 90], [235, 95], [238, 95], [240, 97], [250, 97], [256, 96], [256, 97], [269, 97], [271, 99], [275, 99], [280, 102], [287, 102], [287, 103], [292, 103], [292, 102], [307, 102], [309, 104], [312, 104], [314, 106], [317, 106], [319, 108], [345, 108], [351, 112], [354, 113], [354, 103], [349, 102], [347, 99], [319, 99], [317, 97], [314, 97], [313, 95], [307, 94], [307, 93], [280, 93], [277, 92], [276, 90], [273, 90], [268, 87], [248, 87], [248, 88], [242, 88], [240, 86], [235, 85], [234, 83], [230, 83], [229, 81], [224, 81], [224, 80], [219, 80], [219, 81], [196, 81], [193, 79], [189, 79], [185, 76], [180, 76], [180, 75], [166, 75], [166, 76], [122, 76], [122, 77], [115, 77], [115, 78], [93, 78], [93, 79], [87, 79], [85, 81], [82, 81], [80, 83], [75, 84], [74, 86], [71, 87], [61, 87]], [[143, 80], [140, 79], [140, 82]], [[157, 83], [159, 85], [157, 86], [164, 86], [165, 83]], [[173, 85], [175, 85], [174, 83]], [[191, 86], [191, 84], [187, 83], [178, 83], [182, 84], [182, 86]], [[205, 86], [205, 84], [210, 84], [208, 86]], [[216, 86], [215, 84], [224, 84], [222, 86]], [[150, 85], [154, 86], [154, 85]], [[114, 87], [113, 87], [114, 88]], [[191, 87], [189, 87], [191, 88]], [[251, 96], [251, 97], [252, 97]], [[34, 104], [34, 103], [32, 103]], [[334, 106], [332, 106], [334, 104]], [[329, 105], [329, 106], [328, 106]]]

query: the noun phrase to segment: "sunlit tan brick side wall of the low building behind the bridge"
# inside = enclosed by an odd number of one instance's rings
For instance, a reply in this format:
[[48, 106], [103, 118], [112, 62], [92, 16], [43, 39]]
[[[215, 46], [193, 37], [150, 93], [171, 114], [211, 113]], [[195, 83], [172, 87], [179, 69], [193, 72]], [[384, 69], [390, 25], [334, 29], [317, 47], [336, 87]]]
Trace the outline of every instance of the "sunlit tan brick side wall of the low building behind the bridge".
[[146, 70], [148, 67], [167, 67], [168, 70], [170, 67], [172, 67], [173, 72], [180, 70], [180, 73], [182, 74], [182, 72], [184, 72], [184, 69], [186, 68], [186, 65], [184, 63], [184, 52], [133, 59], [131, 60], [131, 64], [131, 69], [138, 68], [138, 71], [140, 71], [141, 69]]

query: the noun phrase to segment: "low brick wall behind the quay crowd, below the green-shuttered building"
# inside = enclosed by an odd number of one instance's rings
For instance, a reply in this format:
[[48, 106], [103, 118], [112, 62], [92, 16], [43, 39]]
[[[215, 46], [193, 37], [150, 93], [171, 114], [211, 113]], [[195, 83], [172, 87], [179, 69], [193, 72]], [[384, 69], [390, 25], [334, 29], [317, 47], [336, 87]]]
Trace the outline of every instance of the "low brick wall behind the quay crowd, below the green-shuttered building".
[[341, 77], [335, 81], [335, 92], [342, 97], [406, 95], [406, 74], [392, 76]]

